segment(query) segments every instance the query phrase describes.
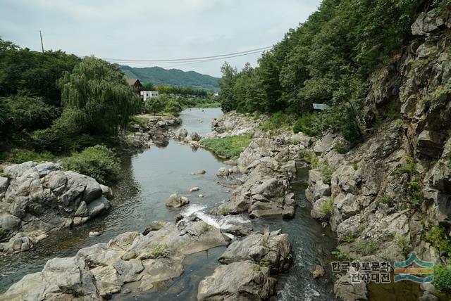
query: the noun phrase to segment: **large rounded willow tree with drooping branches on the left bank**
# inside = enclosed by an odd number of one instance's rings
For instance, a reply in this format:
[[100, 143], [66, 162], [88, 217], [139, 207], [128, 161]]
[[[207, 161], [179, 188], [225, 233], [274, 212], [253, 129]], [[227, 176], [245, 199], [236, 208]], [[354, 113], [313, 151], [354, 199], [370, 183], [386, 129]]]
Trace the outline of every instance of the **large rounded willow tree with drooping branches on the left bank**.
[[83, 58], [57, 84], [65, 111], [92, 134], [117, 134], [139, 110], [140, 100], [121, 70], [98, 58]]

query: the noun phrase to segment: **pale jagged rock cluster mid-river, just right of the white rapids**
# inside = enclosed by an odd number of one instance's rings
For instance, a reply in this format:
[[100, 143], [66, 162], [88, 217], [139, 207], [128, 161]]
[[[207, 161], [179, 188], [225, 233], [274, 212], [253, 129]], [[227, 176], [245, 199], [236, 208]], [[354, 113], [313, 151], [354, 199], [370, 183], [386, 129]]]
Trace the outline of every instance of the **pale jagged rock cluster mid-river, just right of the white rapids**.
[[[235, 113], [228, 113], [221, 122], [235, 124], [229, 121], [235, 118], [237, 118]], [[247, 120], [247, 122], [256, 123], [254, 120]], [[248, 128], [253, 127], [249, 125]], [[235, 132], [226, 131], [221, 135], [227, 134], [235, 134]], [[296, 174], [299, 150], [310, 145], [311, 138], [303, 134], [254, 136], [252, 142], [238, 158], [237, 167], [218, 170], [218, 177], [227, 177], [233, 172], [241, 172], [242, 184], [235, 188], [228, 201], [217, 205], [213, 213], [248, 212], [251, 217], [292, 217], [295, 214], [296, 203], [294, 194], [290, 192], [290, 181]]]

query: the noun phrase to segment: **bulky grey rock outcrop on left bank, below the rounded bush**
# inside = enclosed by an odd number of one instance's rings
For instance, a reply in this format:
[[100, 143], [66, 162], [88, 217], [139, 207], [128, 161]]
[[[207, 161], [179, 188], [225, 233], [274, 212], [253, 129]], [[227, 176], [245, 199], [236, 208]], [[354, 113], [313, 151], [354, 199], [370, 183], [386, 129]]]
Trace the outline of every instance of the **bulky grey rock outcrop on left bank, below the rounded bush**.
[[[20, 252], [47, 232], [77, 226], [109, 210], [111, 188], [53, 162], [24, 162], [4, 168], [0, 178], [0, 227], [12, 236], [0, 253]], [[106, 196], [106, 197], [105, 197]]]

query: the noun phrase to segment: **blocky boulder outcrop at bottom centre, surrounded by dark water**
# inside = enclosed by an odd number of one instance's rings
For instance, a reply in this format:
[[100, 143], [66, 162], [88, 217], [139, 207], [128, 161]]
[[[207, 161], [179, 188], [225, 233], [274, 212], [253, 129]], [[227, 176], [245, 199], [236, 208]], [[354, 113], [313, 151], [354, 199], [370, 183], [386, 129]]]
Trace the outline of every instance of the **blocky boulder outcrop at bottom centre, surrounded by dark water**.
[[231, 243], [214, 274], [199, 283], [198, 300], [267, 300], [274, 294], [274, 275], [290, 266], [290, 241], [280, 231], [252, 233]]

